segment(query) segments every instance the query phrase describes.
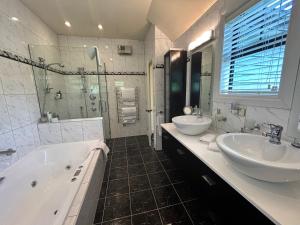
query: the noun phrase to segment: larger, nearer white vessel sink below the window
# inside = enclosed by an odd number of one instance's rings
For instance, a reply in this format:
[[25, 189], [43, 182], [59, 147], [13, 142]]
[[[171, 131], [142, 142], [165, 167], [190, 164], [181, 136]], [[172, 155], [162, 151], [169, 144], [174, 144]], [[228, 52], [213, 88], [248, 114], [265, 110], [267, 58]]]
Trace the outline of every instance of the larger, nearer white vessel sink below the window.
[[243, 174], [269, 182], [300, 180], [300, 150], [289, 143], [272, 144], [269, 138], [244, 133], [218, 136], [225, 159]]

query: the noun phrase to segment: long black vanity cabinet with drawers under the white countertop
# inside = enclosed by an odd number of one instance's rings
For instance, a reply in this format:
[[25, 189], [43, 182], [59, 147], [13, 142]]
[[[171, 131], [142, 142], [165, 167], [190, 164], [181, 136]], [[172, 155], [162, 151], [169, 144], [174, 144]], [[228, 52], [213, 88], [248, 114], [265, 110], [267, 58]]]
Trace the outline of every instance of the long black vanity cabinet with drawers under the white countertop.
[[189, 183], [199, 201], [198, 215], [211, 217], [213, 225], [272, 225], [252, 204], [231, 188], [200, 159], [163, 129], [163, 151]]

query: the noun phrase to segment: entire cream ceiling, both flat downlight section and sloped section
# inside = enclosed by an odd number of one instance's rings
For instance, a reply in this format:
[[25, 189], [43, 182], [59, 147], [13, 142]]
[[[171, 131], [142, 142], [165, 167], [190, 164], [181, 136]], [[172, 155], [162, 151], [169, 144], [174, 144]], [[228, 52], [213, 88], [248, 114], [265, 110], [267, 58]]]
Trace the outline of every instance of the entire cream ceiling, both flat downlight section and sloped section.
[[175, 40], [216, 0], [21, 1], [57, 34], [144, 40], [150, 21]]

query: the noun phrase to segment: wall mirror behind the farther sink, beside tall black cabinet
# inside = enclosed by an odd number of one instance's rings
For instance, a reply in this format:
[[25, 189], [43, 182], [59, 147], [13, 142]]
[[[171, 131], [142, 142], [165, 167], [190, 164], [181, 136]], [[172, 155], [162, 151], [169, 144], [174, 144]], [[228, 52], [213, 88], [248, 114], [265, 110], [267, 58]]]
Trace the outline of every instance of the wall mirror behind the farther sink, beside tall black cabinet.
[[213, 47], [206, 46], [191, 55], [190, 105], [199, 106], [204, 115], [211, 114]]

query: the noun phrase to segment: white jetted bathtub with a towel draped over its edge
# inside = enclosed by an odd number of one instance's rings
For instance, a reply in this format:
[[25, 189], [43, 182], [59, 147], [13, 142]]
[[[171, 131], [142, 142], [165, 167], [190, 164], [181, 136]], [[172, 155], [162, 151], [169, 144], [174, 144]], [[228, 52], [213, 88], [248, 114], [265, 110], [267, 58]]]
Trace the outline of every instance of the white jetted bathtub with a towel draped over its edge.
[[[105, 147], [98, 140], [44, 145], [0, 172], [0, 177], [5, 177], [0, 182], [0, 225], [63, 225], [70, 215], [74, 224], [80, 224], [77, 220], [88, 189], [101, 187]], [[85, 191], [80, 194], [81, 189]], [[98, 193], [100, 188], [92, 195]], [[85, 210], [95, 211], [95, 204], [88, 204], [93, 209]]]

